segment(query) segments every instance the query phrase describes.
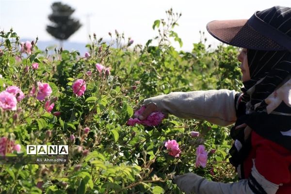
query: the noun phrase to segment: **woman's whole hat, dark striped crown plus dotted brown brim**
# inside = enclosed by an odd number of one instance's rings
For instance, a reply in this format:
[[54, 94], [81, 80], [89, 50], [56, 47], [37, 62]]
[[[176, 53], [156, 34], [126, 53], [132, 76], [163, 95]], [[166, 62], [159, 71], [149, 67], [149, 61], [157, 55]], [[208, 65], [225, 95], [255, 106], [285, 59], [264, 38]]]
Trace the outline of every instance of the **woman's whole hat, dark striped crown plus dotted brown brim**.
[[249, 19], [215, 20], [207, 31], [228, 45], [255, 50], [291, 51], [291, 7], [257, 11]]

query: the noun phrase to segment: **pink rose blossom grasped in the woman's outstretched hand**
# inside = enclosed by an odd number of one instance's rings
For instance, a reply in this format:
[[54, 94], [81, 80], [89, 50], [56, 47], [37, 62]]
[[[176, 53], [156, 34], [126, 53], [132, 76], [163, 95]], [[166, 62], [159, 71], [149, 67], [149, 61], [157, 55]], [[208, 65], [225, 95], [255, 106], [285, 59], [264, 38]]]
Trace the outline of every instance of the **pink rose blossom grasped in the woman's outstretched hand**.
[[[138, 117], [145, 111], [146, 107], [142, 106], [139, 110], [137, 110], [133, 115], [134, 117]], [[150, 115], [147, 116], [146, 119], [144, 120], [139, 120], [138, 118], [129, 118], [128, 120], [128, 125], [134, 126], [136, 123], [137, 124], [142, 124], [146, 126], [158, 126], [161, 122], [162, 119], [164, 118], [164, 114], [161, 112], [153, 112], [150, 113]]]

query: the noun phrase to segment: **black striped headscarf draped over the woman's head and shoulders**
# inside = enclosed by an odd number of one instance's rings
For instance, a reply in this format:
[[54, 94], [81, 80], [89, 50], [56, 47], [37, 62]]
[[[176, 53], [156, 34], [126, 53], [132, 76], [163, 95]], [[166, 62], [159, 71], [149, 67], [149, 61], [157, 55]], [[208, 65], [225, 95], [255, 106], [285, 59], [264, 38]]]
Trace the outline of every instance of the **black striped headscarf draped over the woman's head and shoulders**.
[[[273, 11], [259, 12], [257, 16], [291, 37], [291, 8], [281, 7]], [[237, 107], [238, 119], [235, 127], [245, 123], [260, 136], [291, 150], [290, 103], [282, 101], [268, 113], [266, 102], [266, 98], [274, 96], [291, 78], [291, 51], [248, 49], [247, 59], [251, 80], [243, 82], [243, 94]], [[285, 95], [288, 96], [289, 92]], [[231, 129], [235, 144], [230, 149], [232, 158], [229, 161], [238, 167], [249, 154], [251, 137], [244, 140], [244, 127], [241, 129], [235, 127]]]

